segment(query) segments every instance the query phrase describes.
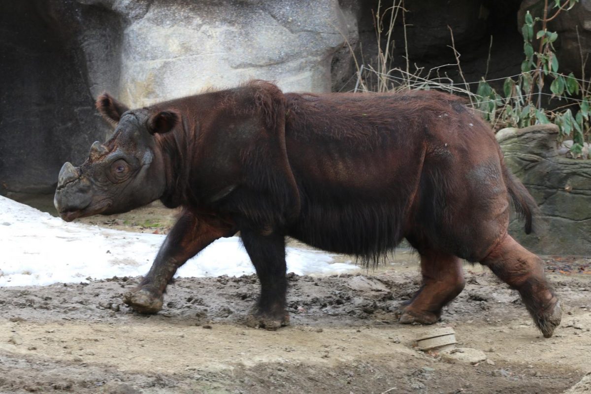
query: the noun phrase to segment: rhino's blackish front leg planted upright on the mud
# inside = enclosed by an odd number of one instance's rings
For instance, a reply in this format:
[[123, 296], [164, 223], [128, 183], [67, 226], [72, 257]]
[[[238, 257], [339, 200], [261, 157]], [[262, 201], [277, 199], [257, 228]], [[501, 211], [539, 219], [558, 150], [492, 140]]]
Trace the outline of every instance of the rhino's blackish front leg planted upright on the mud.
[[290, 321], [285, 311], [285, 237], [278, 234], [259, 235], [251, 230], [241, 230], [241, 236], [261, 283], [261, 294], [246, 318], [246, 325], [277, 330]]

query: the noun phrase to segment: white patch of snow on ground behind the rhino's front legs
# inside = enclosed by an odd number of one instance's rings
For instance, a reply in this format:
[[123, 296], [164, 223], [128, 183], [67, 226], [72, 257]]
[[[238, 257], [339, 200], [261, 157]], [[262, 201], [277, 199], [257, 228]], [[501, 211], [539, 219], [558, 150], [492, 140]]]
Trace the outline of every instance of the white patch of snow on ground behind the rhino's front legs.
[[[86, 282], [86, 278], [145, 275], [164, 235], [66, 223], [0, 196], [0, 286]], [[353, 263], [335, 255], [287, 248], [287, 271], [298, 275], [342, 273]], [[177, 276], [240, 276], [254, 267], [239, 237], [222, 238], [185, 263]]]

